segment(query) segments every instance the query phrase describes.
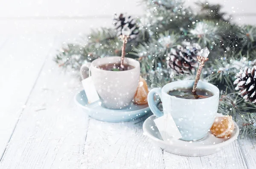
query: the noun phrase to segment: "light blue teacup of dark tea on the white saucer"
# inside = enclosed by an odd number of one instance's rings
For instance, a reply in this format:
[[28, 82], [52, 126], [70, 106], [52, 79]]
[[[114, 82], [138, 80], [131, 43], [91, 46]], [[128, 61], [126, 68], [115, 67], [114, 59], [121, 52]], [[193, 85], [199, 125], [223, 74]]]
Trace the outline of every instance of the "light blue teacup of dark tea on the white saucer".
[[[213, 96], [205, 99], [181, 99], [170, 96], [168, 92], [173, 89], [192, 88], [193, 80], [171, 82], [161, 88], [154, 88], [148, 93], [148, 105], [157, 117], [170, 113], [174, 119], [184, 141], [196, 141], [204, 138], [211, 128], [218, 110], [218, 87], [199, 81], [197, 88], [207, 89]], [[154, 102], [154, 94], [157, 93], [163, 102], [163, 113]]]

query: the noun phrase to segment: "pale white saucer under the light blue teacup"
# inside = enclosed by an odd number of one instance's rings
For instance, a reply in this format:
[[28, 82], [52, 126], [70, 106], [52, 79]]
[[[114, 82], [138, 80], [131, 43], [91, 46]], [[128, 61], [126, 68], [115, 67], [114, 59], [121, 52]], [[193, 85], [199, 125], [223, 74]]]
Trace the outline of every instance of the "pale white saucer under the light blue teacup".
[[[217, 116], [222, 116], [217, 114]], [[155, 123], [156, 117], [151, 115], [143, 123], [144, 135], [148, 136], [157, 146], [176, 155], [203, 156], [210, 155], [221, 150], [222, 147], [231, 144], [239, 135], [239, 127], [235, 123], [235, 129], [228, 138], [217, 138], [211, 132], [199, 141], [175, 140], [172, 142], [163, 141]]]

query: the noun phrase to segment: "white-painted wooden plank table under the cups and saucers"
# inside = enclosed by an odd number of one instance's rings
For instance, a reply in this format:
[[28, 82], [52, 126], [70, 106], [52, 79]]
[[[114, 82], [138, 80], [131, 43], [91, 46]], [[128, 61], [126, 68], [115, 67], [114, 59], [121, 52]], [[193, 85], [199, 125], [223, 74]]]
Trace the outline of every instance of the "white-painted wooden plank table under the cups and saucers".
[[[71, 36], [72, 37], [72, 36]], [[136, 121], [94, 120], [74, 103], [82, 87], [52, 58], [66, 36], [1, 35], [0, 169], [255, 169], [256, 139], [213, 155], [160, 149]]]

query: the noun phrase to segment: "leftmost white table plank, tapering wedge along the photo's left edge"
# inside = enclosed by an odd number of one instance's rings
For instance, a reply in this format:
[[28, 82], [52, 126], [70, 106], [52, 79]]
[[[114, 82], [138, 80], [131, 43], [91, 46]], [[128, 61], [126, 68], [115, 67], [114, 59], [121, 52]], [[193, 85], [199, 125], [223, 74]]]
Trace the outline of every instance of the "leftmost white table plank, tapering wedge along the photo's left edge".
[[13, 36], [0, 56], [0, 157], [35, 84], [54, 37]]

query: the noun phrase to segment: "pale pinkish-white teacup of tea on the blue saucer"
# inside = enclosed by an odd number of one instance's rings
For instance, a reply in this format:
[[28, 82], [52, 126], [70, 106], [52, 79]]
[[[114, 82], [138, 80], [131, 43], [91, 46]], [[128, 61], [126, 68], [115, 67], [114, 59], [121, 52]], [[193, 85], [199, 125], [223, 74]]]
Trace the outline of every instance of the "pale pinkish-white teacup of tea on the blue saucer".
[[88, 69], [92, 76], [93, 84], [102, 101], [102, 105], [110, 109], [122, 109], [131, 104], [136, 93], [140, 78], [140, 62], [135, 59], [125, 58], [124, 63], [134, 66], [125, 71], [109, 71], [97, 68], [107, 63], [120, 63], [121, 57], [111, 56], [94, 60], [81, 66], [82, 79], [87, 76]]

